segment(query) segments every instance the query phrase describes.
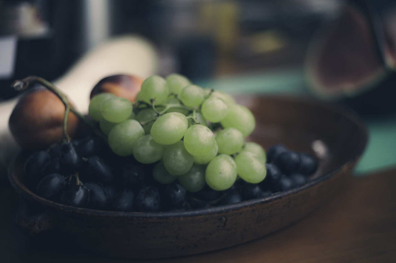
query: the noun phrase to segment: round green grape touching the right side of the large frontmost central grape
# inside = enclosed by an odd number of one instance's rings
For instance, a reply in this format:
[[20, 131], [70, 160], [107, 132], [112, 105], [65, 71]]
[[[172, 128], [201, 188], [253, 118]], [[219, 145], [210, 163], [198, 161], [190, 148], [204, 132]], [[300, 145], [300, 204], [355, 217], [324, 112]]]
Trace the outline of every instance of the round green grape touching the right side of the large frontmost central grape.
[[205, 156], [215, 147], [213, 132], [202, 124], [192, 125], [184, 133], [184, 147], [194, 156]]

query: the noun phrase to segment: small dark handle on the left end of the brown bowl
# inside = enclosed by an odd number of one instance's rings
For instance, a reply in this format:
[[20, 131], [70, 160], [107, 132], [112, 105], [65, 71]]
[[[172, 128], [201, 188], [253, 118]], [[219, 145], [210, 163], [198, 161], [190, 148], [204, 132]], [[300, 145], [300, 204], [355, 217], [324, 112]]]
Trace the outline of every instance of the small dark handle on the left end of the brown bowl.
[[44, 211], [34, 216], [28, 216], [28, 207], [21, 197], [19, 209], [15, 215], [15, 223], [18, 229], [25, 235], [34, 235], [42, 231], [52, 229], [54, 225], [54, 215], [49, 211]]

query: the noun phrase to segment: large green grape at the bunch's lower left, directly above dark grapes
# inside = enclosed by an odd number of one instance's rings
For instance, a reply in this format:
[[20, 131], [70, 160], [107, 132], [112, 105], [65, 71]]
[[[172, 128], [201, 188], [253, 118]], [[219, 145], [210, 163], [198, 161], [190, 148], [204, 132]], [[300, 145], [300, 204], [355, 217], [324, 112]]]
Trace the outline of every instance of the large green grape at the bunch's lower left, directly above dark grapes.
[[111, 129], [108, 137], [109, 147], [117, 155], [131, 155], [133, 145], [143, 135], [145, 130], [137, 120], [124, 120]]

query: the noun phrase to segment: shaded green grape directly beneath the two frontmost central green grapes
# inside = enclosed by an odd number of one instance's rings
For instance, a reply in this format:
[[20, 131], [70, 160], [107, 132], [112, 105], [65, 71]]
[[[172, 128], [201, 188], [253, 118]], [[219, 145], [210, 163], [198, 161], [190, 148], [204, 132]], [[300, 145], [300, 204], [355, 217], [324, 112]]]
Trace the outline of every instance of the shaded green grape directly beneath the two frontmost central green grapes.
[[194, 156], [189, 154], [183, 141], [178, 141], [165, 148], [164, 165], [171, 175], [183, 175], [190, 170]]

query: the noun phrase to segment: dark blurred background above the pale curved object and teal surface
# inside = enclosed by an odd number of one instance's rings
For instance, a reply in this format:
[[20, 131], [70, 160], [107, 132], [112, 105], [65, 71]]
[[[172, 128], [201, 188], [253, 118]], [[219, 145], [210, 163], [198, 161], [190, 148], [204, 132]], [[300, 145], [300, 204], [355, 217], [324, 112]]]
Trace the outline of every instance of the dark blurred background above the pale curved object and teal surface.
[[314, 32], [344, 5], [343, 0], [0, 0], [0, 54], [8, 54], [0, 58], [5, 68], [0, 99], [15, 96], [4, 88], [12, 80], [57, 79], [89, 49], [122, 34], [154, 43], [160, 75], [179, 72], [193, 81], [301, 66]]

